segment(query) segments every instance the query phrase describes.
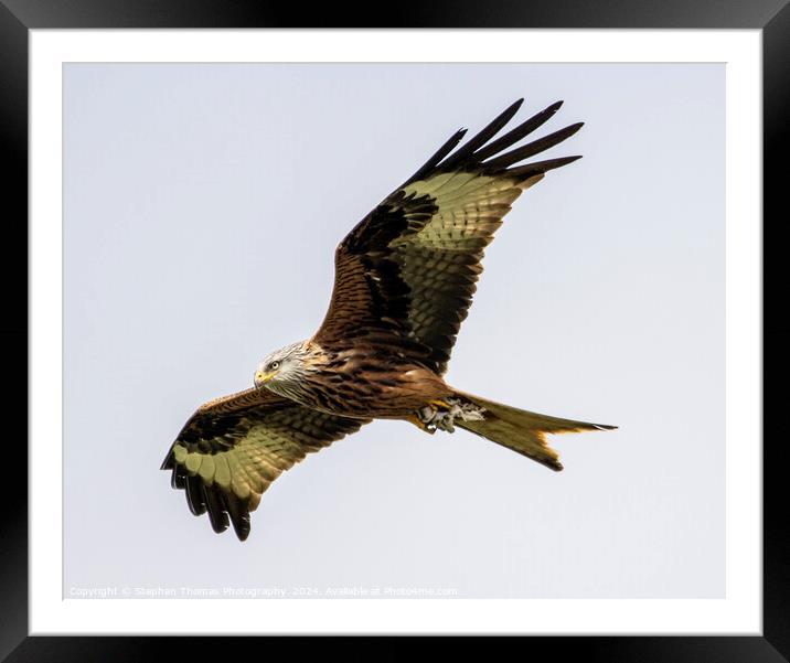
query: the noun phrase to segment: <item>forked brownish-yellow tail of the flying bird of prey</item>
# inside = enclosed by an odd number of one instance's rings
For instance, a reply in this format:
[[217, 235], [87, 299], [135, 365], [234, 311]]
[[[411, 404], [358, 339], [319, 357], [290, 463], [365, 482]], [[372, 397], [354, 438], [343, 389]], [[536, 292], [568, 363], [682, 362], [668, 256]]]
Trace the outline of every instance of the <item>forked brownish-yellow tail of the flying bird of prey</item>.
[[617, 428], [617, 426], [540, 415], [487, 400], [471, 394], [465, 394], [463, 392], [456, 392], [453, 396], [461, 403], [471, 403], [484, 410], [482, 419], [456, 418], [456, 426], [508, 447], [556, 471], [562, 470], [563, 464], [559, 462], [559, 455], [546, 442], [547, 432], [581, 432], [584, 430], [612, 430]]

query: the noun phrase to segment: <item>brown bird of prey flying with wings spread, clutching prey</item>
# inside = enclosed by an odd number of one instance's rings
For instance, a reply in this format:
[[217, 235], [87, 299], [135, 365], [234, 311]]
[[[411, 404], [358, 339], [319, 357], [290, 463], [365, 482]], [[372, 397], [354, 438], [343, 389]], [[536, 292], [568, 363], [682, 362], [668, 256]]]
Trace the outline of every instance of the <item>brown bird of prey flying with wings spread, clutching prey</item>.
[[273, 352], [254, 386], [202, 405], [161, 466], [195, 515], [247, 538], [249, 514], [280, 473], [372, 419], [421, 430], [462, 428], [562, 470], [546, 434], [612, 429], [517, 409], [456, 389], [442, 374], [482, 271], [483, 249], [513, 202], [580, 157], [523, 163], [583, 122], [514, 147], [549, 120], [552, 104], [506, 133], [519, 99], [459, 147], [453, 133], [340, 243], [319, 330]]

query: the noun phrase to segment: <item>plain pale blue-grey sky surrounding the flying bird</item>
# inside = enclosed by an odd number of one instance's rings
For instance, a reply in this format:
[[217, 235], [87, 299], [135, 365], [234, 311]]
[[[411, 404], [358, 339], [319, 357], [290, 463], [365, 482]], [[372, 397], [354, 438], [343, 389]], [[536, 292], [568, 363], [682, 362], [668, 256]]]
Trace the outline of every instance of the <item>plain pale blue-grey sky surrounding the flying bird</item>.
[[[309, 336], [343, 235], [516, 98], [548, 156], [487, 252], [448, 382], [616, 424], [554, 473], [377, 421], [285, 473], [245, 544], [159, 464]], [[90, 587], [724, 596], [724, 66], [66, 65], [65, 574]], [[517, 119], [516, 118], [516, 119]]]

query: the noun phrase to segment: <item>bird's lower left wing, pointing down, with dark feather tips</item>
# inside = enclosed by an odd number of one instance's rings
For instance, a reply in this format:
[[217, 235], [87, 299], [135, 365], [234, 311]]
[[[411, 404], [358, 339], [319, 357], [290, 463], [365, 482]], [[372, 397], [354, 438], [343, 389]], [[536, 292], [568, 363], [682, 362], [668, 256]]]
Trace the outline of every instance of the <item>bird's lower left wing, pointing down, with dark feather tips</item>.
[[214, 532], [241, 541], [249, 512], [285, 470], [311, 451], [355, 432], [370, 419], [312, 410], [268, 389], [247, 389], [202, 405], [170, 447], [162, 470], [183, 489], [194, 515], [209, 512]]

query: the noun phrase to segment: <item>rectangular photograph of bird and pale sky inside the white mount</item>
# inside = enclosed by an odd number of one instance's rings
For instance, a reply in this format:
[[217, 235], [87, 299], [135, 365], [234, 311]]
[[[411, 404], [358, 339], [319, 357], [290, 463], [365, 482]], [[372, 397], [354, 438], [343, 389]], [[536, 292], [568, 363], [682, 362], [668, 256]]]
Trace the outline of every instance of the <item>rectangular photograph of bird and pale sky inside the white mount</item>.
[[724, 64], [66, 63], [63, 203], [63, 598], [725, 597]]

